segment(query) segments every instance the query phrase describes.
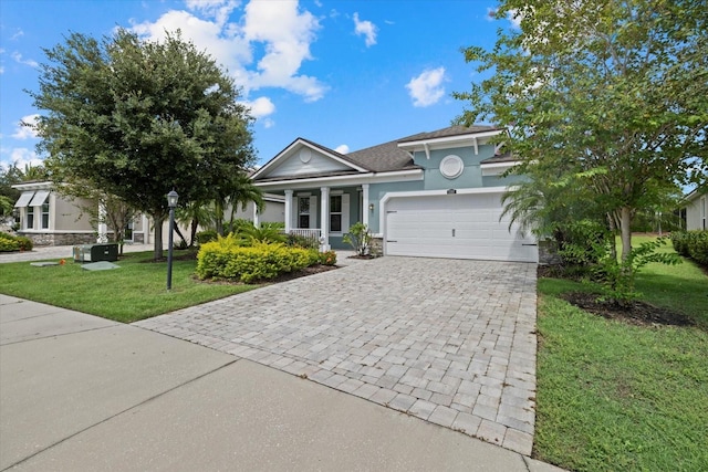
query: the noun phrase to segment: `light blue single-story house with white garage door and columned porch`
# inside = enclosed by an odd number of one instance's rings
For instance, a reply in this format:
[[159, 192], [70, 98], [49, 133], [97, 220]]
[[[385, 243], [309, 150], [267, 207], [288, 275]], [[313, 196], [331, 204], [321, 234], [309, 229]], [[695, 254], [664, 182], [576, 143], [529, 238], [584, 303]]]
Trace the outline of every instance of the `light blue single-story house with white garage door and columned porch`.
[[346, 155], [298, 138], [253, 174], [284, 196], [285, 231], [345, 249], [357, 221], [387, 255], [538, 262], [535, 239], [509, 229], [501, 196], [520, 177], [490, 140], [504, 129], [454, 126]]

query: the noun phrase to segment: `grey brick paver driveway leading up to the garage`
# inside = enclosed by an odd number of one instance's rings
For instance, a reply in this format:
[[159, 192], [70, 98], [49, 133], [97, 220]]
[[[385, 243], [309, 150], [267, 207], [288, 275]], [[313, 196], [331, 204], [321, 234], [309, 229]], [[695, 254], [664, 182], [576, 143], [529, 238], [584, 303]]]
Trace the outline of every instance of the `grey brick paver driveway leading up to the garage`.
[[387, 256], [135, 325], [531, 453], [535, 264]]

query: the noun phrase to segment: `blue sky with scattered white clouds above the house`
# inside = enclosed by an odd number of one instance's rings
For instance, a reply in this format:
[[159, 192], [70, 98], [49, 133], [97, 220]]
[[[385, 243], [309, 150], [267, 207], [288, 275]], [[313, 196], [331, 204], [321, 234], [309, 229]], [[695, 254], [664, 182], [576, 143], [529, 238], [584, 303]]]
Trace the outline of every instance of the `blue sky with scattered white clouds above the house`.
[[259, 164], [298, 137], [346, 153], [450, 125], [451, 92], [479, 81], [460, 48], [491, 48], [494, 0], [3, 0], [0, 2], [0, 165], [39, 164], [20, 122], [41, 111], [42, 49], [70, 31], [116, 27], [145, 39], [181, 29], [243, 88]]

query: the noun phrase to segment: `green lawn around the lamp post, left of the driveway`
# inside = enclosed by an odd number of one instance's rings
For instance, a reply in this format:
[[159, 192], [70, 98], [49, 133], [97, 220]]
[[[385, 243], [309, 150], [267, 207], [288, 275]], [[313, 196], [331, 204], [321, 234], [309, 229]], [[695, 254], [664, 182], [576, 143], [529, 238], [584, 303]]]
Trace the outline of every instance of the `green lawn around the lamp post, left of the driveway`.
[[[176, 251], [175, 256], [180, 254]], [[173, 290], [167, 263], [150, 262], [152, 252], [128, 253], [121, 269], [90, 272], [80, 263], [35, 268], [29, 262], [0, 264], [0, 293], [132, 323], [258, 285], [205, 283], [194, 279], [196, 261], [174, 261]]]

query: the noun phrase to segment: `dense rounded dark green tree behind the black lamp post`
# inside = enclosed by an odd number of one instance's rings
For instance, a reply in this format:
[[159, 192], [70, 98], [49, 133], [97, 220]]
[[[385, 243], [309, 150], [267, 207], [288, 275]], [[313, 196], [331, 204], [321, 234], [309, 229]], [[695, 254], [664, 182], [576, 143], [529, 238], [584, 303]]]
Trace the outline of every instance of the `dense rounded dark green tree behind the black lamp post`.
[[149, 214], [162, 259], [166, 193], [180, 204], [214, 199], [254, 159], [240, 91], [179, 31], [162, 43], [126, 30], [101, 42], [71, 33], [44, 53], [39, 92], [28, 93], [43, 112], [46, 166]]

